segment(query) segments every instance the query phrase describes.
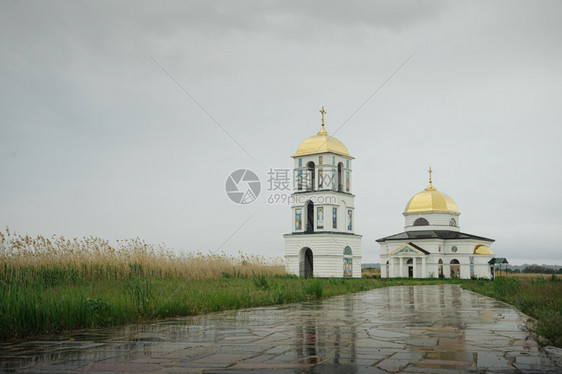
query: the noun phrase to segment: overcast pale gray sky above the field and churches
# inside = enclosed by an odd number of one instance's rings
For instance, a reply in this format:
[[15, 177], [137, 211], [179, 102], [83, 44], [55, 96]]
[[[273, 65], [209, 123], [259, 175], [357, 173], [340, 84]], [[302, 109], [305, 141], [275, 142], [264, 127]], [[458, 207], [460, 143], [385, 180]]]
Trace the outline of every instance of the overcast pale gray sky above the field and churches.
[[[463, 232], [562, 264], [561, 19], [559, 1], [1, 1], [0, 225], [281, 257], [268, 170], [413, 56], [336, 135], [363, 261], [431, 165]], [[239, 168], [263, 182], [245, 206], [224, 192]]]

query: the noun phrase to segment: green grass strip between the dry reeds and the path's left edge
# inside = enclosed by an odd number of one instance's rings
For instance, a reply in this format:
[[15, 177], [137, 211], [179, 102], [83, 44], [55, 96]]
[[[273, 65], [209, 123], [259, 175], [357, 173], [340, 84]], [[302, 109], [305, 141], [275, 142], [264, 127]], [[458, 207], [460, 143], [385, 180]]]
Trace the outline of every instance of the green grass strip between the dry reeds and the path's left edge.
[[49, 276], [46, 281], [34, 284], [27, 281], [1, 283], [0, 339], [318, 300], [390, 285], [444, 282], [438, 279], [301, 279], [263, 274], [254, 277], [225, 274], [222, 278], [204, 281], [55, 279], [53, 282]]

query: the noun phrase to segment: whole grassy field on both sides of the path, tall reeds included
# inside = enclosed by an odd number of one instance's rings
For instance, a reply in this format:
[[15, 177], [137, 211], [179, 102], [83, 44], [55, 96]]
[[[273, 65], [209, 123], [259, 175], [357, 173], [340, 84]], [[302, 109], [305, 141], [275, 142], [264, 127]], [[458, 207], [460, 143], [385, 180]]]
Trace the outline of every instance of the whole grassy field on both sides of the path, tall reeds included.
[[0, 232], [0, 339], [84, 327], [316, 300], [379, 287], [460, 283], [537, 319], [544, 344], [562, 346], [560, 277], [509, 274], [495, 281], [300, 279], [280, 261], [195, 253], [178, 256], [140, 239], [29, 237]]

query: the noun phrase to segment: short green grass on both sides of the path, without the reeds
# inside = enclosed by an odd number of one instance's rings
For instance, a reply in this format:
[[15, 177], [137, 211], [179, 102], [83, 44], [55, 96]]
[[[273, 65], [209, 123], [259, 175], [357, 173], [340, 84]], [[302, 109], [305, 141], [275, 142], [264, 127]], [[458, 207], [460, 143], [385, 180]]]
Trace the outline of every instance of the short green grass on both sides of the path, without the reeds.
[[119, 325], [274, 304], [287, 304], [400, 285], [461, 284], [514, 305], [536, 318], [541, 344], [562, 346], [560, 278], [459, 279], [301, 279], [289, 275], [218, 279], [84, 279], [72, 272], [45, 272], [33, 283], [0, 279], [0, 339]]

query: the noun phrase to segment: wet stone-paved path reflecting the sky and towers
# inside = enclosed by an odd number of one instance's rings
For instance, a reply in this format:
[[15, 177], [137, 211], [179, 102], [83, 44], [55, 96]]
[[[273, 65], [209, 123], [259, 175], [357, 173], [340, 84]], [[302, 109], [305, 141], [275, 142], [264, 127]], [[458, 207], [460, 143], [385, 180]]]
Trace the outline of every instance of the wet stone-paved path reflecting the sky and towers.
[[28, 373], [561, 373], [525, 316], [455, 285], [404, 286], [0, 344]]

